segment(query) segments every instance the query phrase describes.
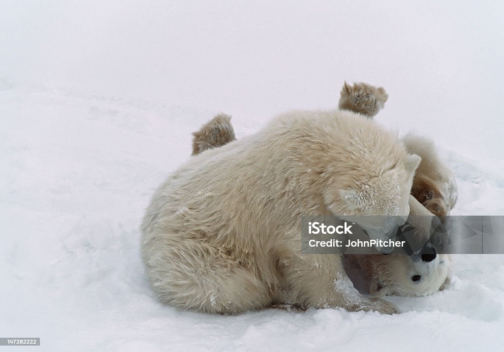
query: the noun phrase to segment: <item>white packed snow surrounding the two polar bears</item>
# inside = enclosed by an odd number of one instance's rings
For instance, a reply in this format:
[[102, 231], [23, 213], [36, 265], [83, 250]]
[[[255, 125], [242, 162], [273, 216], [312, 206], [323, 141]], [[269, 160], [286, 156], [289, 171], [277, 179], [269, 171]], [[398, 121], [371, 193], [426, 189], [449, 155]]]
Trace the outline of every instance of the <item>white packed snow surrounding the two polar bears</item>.
[[191, 132], [220, 111], [240, 138], [289, 108], [335, 107], [345, 79], [387, 89], [384, 126], [432, 137], [457, 178], [452, 214], [504, 214], [504, 3], [251, 4], [2, 4], [0, 337], [41, 337], [41, 350], [501, 350], [504, 255], [455, 256], [447, 290], [387, 298], [392, 316], [158, 302], [139, 224]]

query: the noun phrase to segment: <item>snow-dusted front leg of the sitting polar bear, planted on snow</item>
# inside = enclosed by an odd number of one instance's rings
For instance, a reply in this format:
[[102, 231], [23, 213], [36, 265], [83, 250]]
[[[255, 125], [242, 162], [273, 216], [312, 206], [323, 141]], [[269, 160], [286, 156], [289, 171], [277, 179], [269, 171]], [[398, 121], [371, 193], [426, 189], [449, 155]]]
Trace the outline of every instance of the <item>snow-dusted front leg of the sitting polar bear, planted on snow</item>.
[[399, 313], [387, 301], [361, 295], [345, 272], [339, 255], [293, 255], [283, 263], [282, 271], [290, 294], [301, 306]]

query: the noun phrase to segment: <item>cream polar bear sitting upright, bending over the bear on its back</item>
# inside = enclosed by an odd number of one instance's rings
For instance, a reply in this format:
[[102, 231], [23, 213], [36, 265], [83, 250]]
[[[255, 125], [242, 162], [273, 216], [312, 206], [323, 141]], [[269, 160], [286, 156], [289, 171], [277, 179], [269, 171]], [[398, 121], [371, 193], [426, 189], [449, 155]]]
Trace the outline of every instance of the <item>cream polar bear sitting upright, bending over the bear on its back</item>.
[[[307, 214], [409, 214], [417, 155], [350, 111], [294, 111], [204, 151], [156, 190], [142, 258], [164, 303], [236, 314], [273, 304], [395, 313], [354, 288], [340, 255], [301, 254]], [[390, 229], [388, 221], [376, 233]], [[369, 225], [369, 226], [368, 226]]]

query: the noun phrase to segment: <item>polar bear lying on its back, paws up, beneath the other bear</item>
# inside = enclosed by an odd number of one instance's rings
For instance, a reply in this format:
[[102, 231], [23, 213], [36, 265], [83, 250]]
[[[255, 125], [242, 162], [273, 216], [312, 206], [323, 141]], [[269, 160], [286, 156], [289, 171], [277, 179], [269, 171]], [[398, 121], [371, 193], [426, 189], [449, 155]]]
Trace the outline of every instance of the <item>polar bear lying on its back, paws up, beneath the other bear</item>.
[[[345, 82], [339, 107], [372, 118], [384, 107], [387, 98], [382, 87], [366, 83], [350, 86]], [[230, 119], [229, 115], [219, 114], [200, 131], [193, 133], [193, 145], [204, 146], [194, 149], [193, 155], [235, 140]], [[449, 283], [451, 258], [446, 254], [437, 254], [430, 246], [429, 236], [433, 223], [439, 222], [433, 214], [448, 215], [455, 205], [455, 178], [440, 161], [431, 140], [408, 134], [402, 141], [409, 153], [422, 157], [413, 180], [408, 223], [415, 227], [418, 242], [429, 242], [429, 246], [409, 256], [346, 255], [346, 269], [356, 287], [377, 297], [424, 296], [443, 289]]]

